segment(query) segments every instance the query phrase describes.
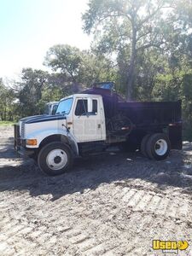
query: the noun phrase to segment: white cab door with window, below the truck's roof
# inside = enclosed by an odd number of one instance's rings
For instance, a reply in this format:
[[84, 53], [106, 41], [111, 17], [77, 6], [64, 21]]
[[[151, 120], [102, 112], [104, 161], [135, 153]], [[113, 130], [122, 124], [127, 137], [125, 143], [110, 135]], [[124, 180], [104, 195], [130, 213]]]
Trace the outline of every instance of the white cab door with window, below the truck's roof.
[[88, 98], [76, 98], [73, 110], [73, 134], [78, 143], [102, 140], [102, 114], [96, 98], [89, 99], [91, 111], [88, 112]]

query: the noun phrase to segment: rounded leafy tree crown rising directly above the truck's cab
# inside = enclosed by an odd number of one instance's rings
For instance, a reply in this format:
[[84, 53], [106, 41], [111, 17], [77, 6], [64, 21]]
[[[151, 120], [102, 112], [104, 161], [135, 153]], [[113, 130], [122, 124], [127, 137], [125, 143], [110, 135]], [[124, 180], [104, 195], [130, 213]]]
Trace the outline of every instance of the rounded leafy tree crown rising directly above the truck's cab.
[[60, 75], [64, 75], [67, 84], [71, 83], [73, 92], [81, 89], [79, 84], [88, 87], [94, 82], [108, 80], [115, 76], [112, 61], [104, 55], [99, 55], [94, 51], [81, 51], [67, 44], [51, 47], [44, 64]]

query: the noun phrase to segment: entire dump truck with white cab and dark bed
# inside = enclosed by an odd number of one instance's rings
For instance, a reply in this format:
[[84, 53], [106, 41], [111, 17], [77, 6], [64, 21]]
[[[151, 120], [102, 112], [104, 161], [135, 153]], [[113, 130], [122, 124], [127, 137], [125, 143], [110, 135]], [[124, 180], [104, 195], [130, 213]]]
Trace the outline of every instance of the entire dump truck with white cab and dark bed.
[[15, 142], [48, 175], [67, 172], [75, 158], [111, 146], [165, 160], [171, 149], [182, 149], [181, 101], [125, 102], [113, 82], [98, 83], [62, 98], [55, 115], [21, 119]]

